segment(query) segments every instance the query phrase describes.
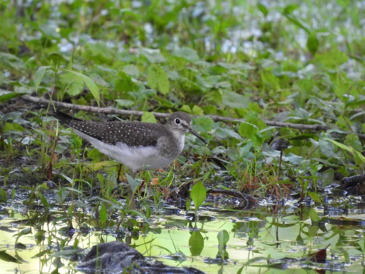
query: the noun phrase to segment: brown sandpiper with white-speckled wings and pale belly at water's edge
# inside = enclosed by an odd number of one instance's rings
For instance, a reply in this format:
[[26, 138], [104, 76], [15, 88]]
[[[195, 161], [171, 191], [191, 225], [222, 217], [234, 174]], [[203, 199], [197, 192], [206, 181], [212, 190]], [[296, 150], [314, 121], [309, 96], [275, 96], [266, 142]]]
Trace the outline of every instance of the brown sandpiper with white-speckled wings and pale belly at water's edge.
[[101, 153], [129, 167], [133, 174], [170, 164], [183, 151], [187, 132], [207, 144], [192, 128], [190, 115], [182, 111], [172, 113], [165, 125], [137, 121], [85, 121], [61, 111], [53, 111], [51, 115], [70, 126]]

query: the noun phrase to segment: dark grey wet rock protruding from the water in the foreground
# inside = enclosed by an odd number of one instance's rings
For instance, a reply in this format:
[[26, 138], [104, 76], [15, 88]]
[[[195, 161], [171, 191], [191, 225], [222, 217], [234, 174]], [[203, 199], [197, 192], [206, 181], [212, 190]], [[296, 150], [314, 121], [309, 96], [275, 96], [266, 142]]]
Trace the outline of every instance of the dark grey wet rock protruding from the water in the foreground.
[[84, 273], [171, 273], [204, 274], [193, 267], [173, 267], [161, 262], [146, 262], [134, 248], [119, 241], [93, 246], [77, 269]]

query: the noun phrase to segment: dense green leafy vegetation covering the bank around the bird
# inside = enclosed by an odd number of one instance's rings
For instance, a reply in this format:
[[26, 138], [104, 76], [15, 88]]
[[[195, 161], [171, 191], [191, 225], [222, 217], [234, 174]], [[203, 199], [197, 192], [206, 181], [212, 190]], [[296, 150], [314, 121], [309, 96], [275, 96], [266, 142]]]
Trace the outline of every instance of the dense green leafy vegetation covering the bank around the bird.
[[[51, 207], [45, 198], [50, 180], [54, 204], [68, 213], [65, 223], [75, 214], [75, 205], [64, 208], [71, 194], [81, 201], [96, 195], [97, 226], [127, 227], [128, 218], [136, 231], [143, 228], [130, 214], [148, 223], [151, 200], [187, 199], [189, 209], [186, 193], [197, 181], [204, 194], [228, 188], [282, 201], [295, 193], [324, 205], [323, 189], [361, 175], [365, 163], [364, 3], [248, 2], [1, 1], [4, 189], [32, 174], [28, 205], [39, 199]], [[32, 103], [24, 94], [49, 104]], [[142, 207], [128, 213], [123, 199], [117, 201], [126, 193], [127, 168], [118, 176], [118, 163], [57, 124], [49, 111], [69, 109], [56, 102], [143, 111], [142, 118], [121, 117], [142, 121], [155, 121], [152, 111], [185, 111], [195, 115], [193, 127], [208, 145], [188, 136], [171, 170], [138, 175], [147, 182]], [[115, 120], [112, 114], [73, 114]], [[149, 184], [156, 176], [159, 183]], [[3, 202], [11, 199], [5, 190]], [[356, 187], [353, 194], [362, 191]], [[108, 218], [115, 209], [120, 221]], [[314, 210], [306, 217], [319, 220]]]

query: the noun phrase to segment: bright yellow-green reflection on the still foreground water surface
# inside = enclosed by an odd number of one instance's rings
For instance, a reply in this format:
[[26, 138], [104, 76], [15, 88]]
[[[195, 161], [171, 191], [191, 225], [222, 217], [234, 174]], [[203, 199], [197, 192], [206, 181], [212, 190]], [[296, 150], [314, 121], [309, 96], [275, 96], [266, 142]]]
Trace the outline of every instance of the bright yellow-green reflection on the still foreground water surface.
[[[201, 211], [200, 215], [212, 215], [211, 212]], [[327, 250], [327, 261], [332, 264], [333, 270], [342, 268], [351, 273], [362, 273], [364, 262], [364, 230], [353, 226], [339, 226], [324, 224], [311, 225], [311, 222], [304, 220], [299, 222], [296, 214], [287, 212], [282, 218], [265, 216], [264, 218], [253, 217], [252, 214], [237, 214], [234, 216], [219, 216], [212, 221], [190, 222], [184, 216], [158, 216], [151, 218], [153, 229], [150, 233], [139, 235], [138, 239], [132, 239], [131, 245], [144, 254], [160, 260], [171, 266], [192, 266], [205, 273], [218, 273], [223, 267], [223, 273], [237, 273], [242, 267], [242, 273], [308, 273], [309, 270], [300, 268], [304, 263], [291, 265], [288, 269], [267, 269], [259, 266], [268, 264], [267, 258], [281, 260], [285, 257], [300, 259], [308, 253], [324, 248], [327, 244], [331, 246]], [[262, 215], [264, 216], [264, 215]], [[31, 234], [22, 235], [18, 243], [26, 246], [26, 249], [16, 249], [16, 235], [29, 228], [28, 225], [15, 224], [16, 220], [25, 220], [17, 213], [12, 218], [3, 216], [0, 222], [1, 249], [6, 254], [22, 260], [22, 263], [9, 262], [6, 256], [0, 256], [0, 273], [50, 273], [58, 262], [57, 258], [46, 258], [56, 251], [57, 246], [64, 241], [65, 246], [72, 248], [74, 241], [78, 241], [78, 247], [89, 249], [100, 242], [114, 241], [110, 233], [91, 231], [86, 236], [75, 233], [72, 239], [59, 233], [61, 228], [58, 225], [43, 225], [45, 231], [44, 239], [36, 244], [35, 233], [40, 228], [31, 228]], [[19, 222], [18, 222], [19, 223]], [[65, 224], [62, 223], [62, 227]], [[73, 224], [77, 228], [76, 222]], [[208, 263], [208, 259], [214, 259], [218, 252], [217, 235], [220, 231], [226, 230], [229, 234], [227, 253], [229, 260], [226, 265]], [[158, 231], [158, 233], [152, 232]], [[124, 239], [123, 239], [124, 240]], [[193, 241], [192, 241], [193, 240]], [[197, 242], [202, 241], [198, 245]], [[190, 244], [190, 245], [189, 245]], [[52, 249], [49, 254], [38, 257], [42, 251]], [[82, 251], [79, 251], [82, 252]], [[192, 252], [194, 253], [192, 255]], [[345, 256], [349, 256], [350, 262], [343, 264]], [[331, 256], [332, 255], [332, 256]], [[11, 258], [11, 257], [10, 257]], [[248, 260], [262, 258], [253, 265], [245, 266]], [[61, 259], [64, 267], [59, 273], [76, 273], [75, 262]], [[328, 266], [328, 265], [327, 265]]]

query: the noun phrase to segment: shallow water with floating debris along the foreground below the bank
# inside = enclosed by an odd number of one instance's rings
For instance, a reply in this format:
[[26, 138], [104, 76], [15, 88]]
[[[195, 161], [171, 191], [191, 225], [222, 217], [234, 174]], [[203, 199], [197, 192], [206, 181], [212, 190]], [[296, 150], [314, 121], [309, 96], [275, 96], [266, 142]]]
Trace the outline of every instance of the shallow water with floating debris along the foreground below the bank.
[[[18, 199], [6, 206], [3, 204], [1, 210], [0, 271], [51, 273], [58, 266], [59, 273], [76, 273], [77, 261], [89, 248], [118, 239], [130, 240], [132, 247], [151, 259], [171, 266], [196, 267], [205, 273], [239, 273], [240, 270], [242, 273], [267, 270], [274, 273], [278, 269], [281, 273], [308, 273], [308, 269], [316, 268], [362, 273], [365, 221], [361, 218], [364, 220], [365, 210], [361, 198], [351, 201], [356, 203], [347, 202], [345, 217], [352, 215], [356, 220], [336, 215], [344, 213], [343, 209], [332, 206], [338, 202], [336, 199], [333, 203], [330, 200], [326, 208], [296, 201], [287, 201], [281, 206], [265, 202], [265, 206], [250, 210], [208, 204], [200, 208], [196, 222], [192, 212], [186, 214], [174, 206], [151, 206], [150, 226], [135, 217], [139, 229], [124, 228], [118, 234], [115, 233], [118, 210], [108, 216], [108, 228], [100, 229], [97, 214], [80, 207], [77, 219], [90, 230], [80, 232], [73, 218], [76, 230], [70, 236], [72, 233], [68, 233], [68, 222], [62, 210], [56, 206], [49, 213], [41, 207], [27, 209]], [[68, 205], [72, 203], [76, 201], [68, 201]], [[142, 212], [143, 205], [138, 210]], [[313, 210], [321, 217], [319, 221], [311, 221]], [[326, 216], [323, 217], [323, 213]], [[222, 264], [216, 257], [219, 252], [217, 235], [223, 230], [229, 235], [226, 246], [229, 259]], [[328, 244], [331, 245], [325, 262], [300, 261]], [[74, 252], [76, 247], [80, 250]]]

